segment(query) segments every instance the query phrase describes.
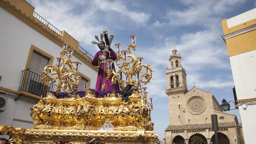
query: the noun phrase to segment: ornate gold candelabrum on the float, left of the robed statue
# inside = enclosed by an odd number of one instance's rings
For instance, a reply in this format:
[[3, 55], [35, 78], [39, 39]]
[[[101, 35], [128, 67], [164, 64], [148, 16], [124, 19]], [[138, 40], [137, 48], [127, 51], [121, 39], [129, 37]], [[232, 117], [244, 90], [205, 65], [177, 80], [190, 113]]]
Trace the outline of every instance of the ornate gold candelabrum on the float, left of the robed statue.
[[60, 52], [61, 57], [57, 57], [56, 66], [48, 64], [40, 75], [46, 85], [52, 84], [55, 79], [59, 79], [59, 83], [56, 84], [57, 94], [62, 90], [63, 92], [75, 92], [77, 90], [81, 78], [78, 73], [81, 62], [72, 61], [72, 53], [73, 48], [63, 43], [63, 50]]

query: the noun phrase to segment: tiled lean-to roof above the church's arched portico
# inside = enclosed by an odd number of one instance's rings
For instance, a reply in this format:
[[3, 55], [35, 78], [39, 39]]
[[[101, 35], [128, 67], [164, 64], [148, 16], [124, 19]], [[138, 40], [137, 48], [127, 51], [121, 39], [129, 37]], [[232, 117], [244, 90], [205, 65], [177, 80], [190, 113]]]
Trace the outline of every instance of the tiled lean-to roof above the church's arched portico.
[[[219, 128], [235, 127], [235, 122], [224, 122], [218, 123]], [[173, 130], [201, 130], [211, 129], [211, 123], [197, 123], [197, 124], [186, 124], [186, 125], [169, 125], [165, 131]]]

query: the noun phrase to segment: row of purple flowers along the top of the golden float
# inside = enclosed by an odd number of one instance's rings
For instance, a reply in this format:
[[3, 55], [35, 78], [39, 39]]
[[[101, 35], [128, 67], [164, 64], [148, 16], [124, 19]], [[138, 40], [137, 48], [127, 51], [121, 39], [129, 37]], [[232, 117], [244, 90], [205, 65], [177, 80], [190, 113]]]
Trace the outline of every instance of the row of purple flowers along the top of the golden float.
[[[90, 89], [90, 91], [94, 92], [97, 98], [102, 98], [105, 95], [111, 94], [113, 92], [111, 90], [94, 90], [94, 89]], [[138, 89], [133, 88], [132, 91], [131, 91], [131, 94], [134, 93], [134, 92], [138, 92], [138, 91], [139, 91]], [[65, 97], [68, 97], [69, 94], [73, 94], [73, 92], [69, 92], [69, 93], [68, 92], [60, 92], [58, 94], [54, 91], [49, 91], [49, 92], [54, 94], [55, 97], [57, 97], [58, 99], [65, 98]], [[116, 94], [120, 94], [121, 90], [115, 90], [114, 92]], [[78, 95], [79, 97], [85, 97], [86, 91], [84, 91], [84, 90], [76, 91], [75, 94]]]

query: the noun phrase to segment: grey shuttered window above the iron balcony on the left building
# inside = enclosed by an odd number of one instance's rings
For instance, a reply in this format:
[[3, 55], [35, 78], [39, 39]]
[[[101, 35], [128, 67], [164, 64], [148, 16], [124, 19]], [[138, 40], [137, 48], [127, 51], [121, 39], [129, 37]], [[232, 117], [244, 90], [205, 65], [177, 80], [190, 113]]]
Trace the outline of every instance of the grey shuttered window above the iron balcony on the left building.
[[30, 71], [36, 74], [40, 74], [42, 73], [43, 69], [45, 68], [45, 66], [47, 66], [48, 63], [49, 58], [46, 58], [41, 54], [38, 54], [37, 52], [33, 51], [28, 68]]

